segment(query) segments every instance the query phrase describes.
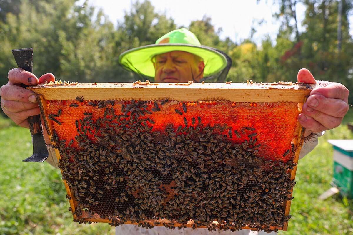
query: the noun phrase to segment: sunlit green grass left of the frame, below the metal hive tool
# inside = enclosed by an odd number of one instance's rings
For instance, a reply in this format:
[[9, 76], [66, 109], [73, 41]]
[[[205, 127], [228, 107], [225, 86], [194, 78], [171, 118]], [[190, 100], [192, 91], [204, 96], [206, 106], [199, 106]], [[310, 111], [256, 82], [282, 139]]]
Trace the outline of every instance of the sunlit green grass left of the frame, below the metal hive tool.
[[28, 129], [0, 129], [0, 234], [114, 234], [108, 224], [72, 222], [60, 170], [22, 162], [33, 153]]

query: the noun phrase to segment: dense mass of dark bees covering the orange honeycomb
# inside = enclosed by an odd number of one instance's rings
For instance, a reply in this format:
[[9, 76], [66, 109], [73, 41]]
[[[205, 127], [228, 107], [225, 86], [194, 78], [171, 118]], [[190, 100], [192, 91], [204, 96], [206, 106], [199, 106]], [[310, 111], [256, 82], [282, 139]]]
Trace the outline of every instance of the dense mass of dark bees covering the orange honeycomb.
[[[204, 125], [196, 116], [162, 130], [149, 115], [168, 99], [154, 101], [152, 108], [148, 101], [131, 100], [119, 110], [117, 102], [89, 101], [91, 109], [75, 120], [74, 139], [53, 131], [62, 179], [77, 201], [76, 222], [87, 222], [83, 210], [114, 226], [130, 221], [145, 228], [182, 228], [192, 220], [193, 228], [272, 231], [288, 221], [284, 202], [293, 199], [293, 157], [283, 162], [259, 156], [255, 128]], [[103, 116], [94, 118], [95, 109], [104, 109]], [[175, 109], [176, 115], [186, 112], [184, 103]], [[50, 117], [59, 120], [61, 113]], [[229, 141], [233, 136], [236, 143]]]

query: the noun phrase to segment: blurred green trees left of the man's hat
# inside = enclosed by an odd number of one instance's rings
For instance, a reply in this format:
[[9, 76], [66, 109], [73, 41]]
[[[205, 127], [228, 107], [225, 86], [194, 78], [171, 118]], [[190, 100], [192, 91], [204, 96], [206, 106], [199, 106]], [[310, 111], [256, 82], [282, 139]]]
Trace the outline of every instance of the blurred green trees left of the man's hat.
[[[66, 81], [122, 81], [130, 73], [118, 65], [114, 26], [95, 7], [75, 6], [76, 0], [22, 0], [20, 12], [0, 21], [1, 83], [17, 67], [11, 49], [34, 48], [34, 73], [53, 73]], [[86, 5], [86, 4], [85, 4]], [[120, 76], [118, 76], [120, 75]]]

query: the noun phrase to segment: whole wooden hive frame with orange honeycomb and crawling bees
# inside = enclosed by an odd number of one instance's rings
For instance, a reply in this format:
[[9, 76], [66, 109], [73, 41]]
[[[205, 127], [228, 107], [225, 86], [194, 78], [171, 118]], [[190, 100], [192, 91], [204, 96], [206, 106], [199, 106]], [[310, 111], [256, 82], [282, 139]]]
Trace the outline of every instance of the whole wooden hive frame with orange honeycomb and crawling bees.
[[38, 94], [74, 221], [287, 230], [315, 85], [68, 84]]

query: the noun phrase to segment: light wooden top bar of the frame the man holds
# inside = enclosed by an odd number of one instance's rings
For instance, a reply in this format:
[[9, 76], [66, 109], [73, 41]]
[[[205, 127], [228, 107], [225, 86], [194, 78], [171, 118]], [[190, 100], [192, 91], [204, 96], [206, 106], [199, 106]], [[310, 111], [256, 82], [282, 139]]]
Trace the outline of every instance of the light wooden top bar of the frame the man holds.
[[316, 84], [303, 83], [162, 83], [134, 85], [134, 83], [80, 83], [40, 84], [29, 87], [42, 94], [45, 100], [151, 100], [166, 98], [174, 100], [224, 99], [234, 102], [303, 102]]

